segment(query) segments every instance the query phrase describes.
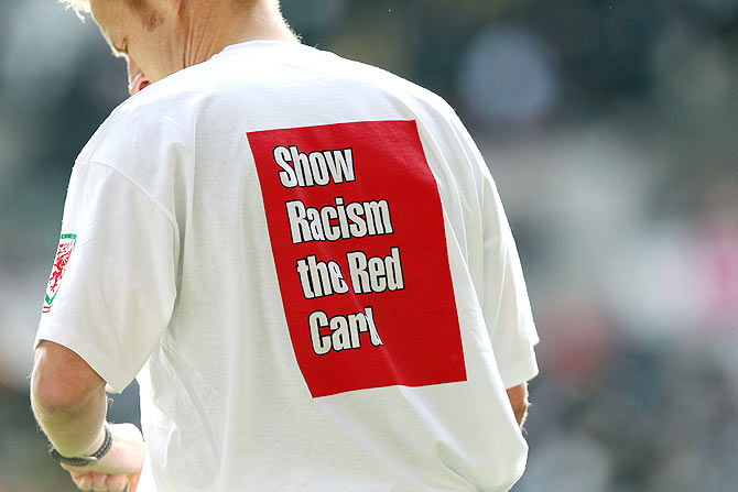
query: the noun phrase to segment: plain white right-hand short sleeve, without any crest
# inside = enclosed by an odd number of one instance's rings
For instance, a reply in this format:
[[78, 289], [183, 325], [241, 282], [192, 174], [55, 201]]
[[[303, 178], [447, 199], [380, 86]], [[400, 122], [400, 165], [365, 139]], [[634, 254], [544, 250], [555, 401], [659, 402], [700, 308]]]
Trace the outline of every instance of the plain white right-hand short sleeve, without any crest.
[[533, 347], [539, 337], [510, 225], [495, 182], [485, 171], [482, 309], [502, 382], [512, 387], [538, 374]]

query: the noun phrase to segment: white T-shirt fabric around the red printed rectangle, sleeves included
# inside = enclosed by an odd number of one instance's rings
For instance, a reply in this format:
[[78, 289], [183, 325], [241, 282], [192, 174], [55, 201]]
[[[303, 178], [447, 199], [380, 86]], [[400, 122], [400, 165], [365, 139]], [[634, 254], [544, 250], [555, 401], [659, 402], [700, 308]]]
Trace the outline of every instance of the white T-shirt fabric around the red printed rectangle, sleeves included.
[[[312, 398], [246, 132], [415, 120], [441, 194], [466, 382]], [[251, 158], [251, 161], [249, 161]], [[77, 234], [37, 340], [138, 374], [148, 491], [502, 492], [527, 444], [504, 389], [538, 336], [492, 178], [454, 111], [380, 69], [250, 42], [133, 96], [80, 153]]]

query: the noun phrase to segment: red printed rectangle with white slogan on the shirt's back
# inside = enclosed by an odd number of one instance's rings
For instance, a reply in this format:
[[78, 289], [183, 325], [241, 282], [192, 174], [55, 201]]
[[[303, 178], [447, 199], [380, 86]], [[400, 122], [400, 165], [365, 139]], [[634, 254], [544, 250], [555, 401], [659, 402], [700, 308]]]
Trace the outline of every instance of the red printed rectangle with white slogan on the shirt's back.
[[415, 122], [247, 138], [313, 397], [466, 381], [441, 198]]

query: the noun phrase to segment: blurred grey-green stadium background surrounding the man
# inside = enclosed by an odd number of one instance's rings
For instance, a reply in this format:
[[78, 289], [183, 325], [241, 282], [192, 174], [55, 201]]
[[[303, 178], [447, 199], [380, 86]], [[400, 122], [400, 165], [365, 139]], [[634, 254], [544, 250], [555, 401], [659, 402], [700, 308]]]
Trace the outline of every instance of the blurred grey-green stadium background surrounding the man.
[[[487, 158], [542, 339], [513, 490], [737, 491], [738, 0], [283, 10], [442, 95]], [[0, 492], [74, 490], [29, 408], [31, 349], [74, 158], [126, 97], [91, 20], [0, 2]]]

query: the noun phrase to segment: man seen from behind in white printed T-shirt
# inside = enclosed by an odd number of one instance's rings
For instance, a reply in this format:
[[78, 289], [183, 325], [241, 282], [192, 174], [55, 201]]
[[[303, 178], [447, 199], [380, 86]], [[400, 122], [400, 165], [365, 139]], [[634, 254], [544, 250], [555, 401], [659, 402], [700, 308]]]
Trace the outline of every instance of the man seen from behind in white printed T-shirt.
[[[509, 490], [538, 336], [453, 110], [275, 0], [67, 3], [133, 92], [75, 163], [36, 337], [77, 486]], [[105, 424], [133, 378], [145, 444]]]

